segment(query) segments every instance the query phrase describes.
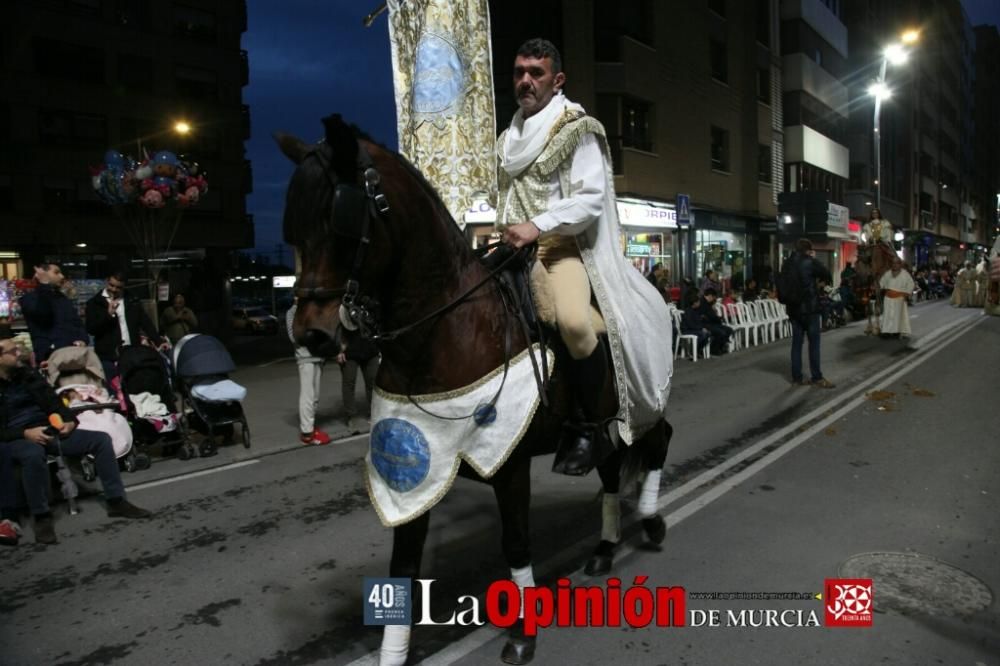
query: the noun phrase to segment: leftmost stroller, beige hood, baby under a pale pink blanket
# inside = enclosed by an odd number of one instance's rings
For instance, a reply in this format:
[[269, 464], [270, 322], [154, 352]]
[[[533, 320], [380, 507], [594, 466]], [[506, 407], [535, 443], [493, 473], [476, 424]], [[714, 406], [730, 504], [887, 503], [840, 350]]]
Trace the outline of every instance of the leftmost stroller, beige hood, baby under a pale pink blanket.
[[[69, 405], [84, 430], [105, 432], [111, 437], [115, 456], [129, 472], [148, 469], [149, 456], [133, 449], [133, 435], [125, 418], [125, 408], [105, 388], [104, 369], [91, 347], [64, 347], [52, 352], [45, 376], [56, 393]], [[94, 462], [81, 461], [87, 481], [96, 478]]]

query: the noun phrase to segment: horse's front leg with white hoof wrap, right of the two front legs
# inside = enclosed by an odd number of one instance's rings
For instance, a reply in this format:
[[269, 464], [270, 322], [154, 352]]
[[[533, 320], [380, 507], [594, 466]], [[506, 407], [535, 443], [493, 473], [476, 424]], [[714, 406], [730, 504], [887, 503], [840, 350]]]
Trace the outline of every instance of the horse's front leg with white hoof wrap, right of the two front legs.
[[[531, 568], [531, 539], [529, 510], [531, 508], [531, 458], [514, 452], [511, 458], [493, 477], [493, 493], [500, 509], [501, 546], [504, 559], [510, 567], [510, 577], [521, 590], [535, 587]], [[535, 656], [537, 636], [524, 631], [524, 606], [518, 621], [507, 631], [507, 643], [500, 652], [500, 659], [507, 664], [527, 664]]]

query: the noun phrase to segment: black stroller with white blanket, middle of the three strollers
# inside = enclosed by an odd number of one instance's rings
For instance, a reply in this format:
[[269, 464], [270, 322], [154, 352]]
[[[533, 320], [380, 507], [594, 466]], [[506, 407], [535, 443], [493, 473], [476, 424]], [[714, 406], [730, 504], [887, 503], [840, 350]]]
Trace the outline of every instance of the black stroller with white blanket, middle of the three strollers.
[[152, 347], [127, 345], [118, 355], [118, 378], [112, 381], [121, 390], [128, 407], [136, 443], [160, 443], [165, 451], [187, 445], [184, 423], [177, 413], [170, 382], [169, 361]]

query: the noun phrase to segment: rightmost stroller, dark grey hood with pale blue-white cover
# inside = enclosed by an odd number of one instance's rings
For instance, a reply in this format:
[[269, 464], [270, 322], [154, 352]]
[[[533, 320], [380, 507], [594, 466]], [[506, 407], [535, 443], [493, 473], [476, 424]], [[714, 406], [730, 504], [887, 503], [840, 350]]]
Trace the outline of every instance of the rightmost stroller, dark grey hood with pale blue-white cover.
[[[209, 441], [216, 430], [232, 437], [233, 424], [240, 424], [243, 446], [250, 448], [250, 426], [243, 412], [247, 390], [229, 379], [236, 369], [229, 351], [218, 338], [192, 333], [174, 347], [174, 369], [181, 394], [181, 408], [191, 406], [196, 427], [203, 425]], [[186, 410], [185, 410], [186, 411]], [[183, 451], [179, 454], [183, 457]]]

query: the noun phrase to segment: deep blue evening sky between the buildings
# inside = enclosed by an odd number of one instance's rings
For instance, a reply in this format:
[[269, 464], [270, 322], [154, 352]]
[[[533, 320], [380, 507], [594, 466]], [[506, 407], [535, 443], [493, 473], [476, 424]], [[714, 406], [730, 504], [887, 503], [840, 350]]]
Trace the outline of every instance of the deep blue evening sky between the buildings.
[[[607, 2], [609, 0], [598, 0]], [[271, 133], [291, 132], [315, 141], [320, 118], [340, 113], [375, 140], [395, 148], [396, 111], [389, 54], [388, 14], [371, 28], [362, 25], [379, 0], [249, 0], [243, 47], [250, 54], [254, 191], [247, 210], [254, 215], [257, 252], [276, 260], [281, 215], [292, 164]], [[1000, 25], [1000, 0], [963, 0], [973, 25]], [[287, 262], [288, 248], [283, 258]]]

